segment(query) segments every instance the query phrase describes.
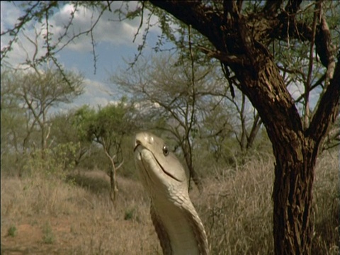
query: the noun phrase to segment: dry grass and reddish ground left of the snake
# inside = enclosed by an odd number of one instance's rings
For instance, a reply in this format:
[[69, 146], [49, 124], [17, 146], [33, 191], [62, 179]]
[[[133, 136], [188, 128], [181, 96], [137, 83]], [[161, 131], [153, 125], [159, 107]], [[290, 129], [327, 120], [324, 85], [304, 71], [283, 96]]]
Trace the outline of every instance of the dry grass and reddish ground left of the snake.
[[140, 183], [120, 179], [113, 208], [105, 174], [81, 179], [1, 179], [1, 254], [160, 254]]

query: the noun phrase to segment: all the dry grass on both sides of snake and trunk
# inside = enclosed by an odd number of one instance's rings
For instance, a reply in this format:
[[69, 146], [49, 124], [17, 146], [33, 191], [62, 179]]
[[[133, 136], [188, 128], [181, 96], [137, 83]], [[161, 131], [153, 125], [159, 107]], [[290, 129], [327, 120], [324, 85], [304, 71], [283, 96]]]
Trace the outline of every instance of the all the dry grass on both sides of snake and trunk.
[[[312, 254], [339, 254], [338, 174], [338, 155], [324, 154], [314, 182]], [[113, 208], [100, 171], [73, 184], [3, 176], [1, 254], [161, 254], [140, 183], [118, 183]], [[273, 161], [266, 159], [205, 179], [203, 195], [191, 192], [212, 254], [273, 254], [272, 187]]]

